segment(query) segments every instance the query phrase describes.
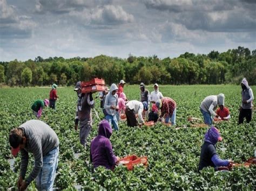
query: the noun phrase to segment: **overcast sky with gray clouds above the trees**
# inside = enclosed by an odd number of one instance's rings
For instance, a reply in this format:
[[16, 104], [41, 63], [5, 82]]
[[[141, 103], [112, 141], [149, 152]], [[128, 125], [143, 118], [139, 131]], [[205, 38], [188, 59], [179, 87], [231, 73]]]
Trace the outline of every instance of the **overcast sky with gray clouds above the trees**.
[[0, 0], [0, 61], [256, 49], [256, 0]]

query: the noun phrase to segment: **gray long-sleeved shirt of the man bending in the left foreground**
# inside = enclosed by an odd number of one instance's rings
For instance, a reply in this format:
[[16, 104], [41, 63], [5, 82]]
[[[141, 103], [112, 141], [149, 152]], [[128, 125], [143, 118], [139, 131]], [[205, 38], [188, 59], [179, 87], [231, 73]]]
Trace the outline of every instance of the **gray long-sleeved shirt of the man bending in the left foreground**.
[[29, 162], [29, 152], [35, 158], [35, 166], [29, 174], [26, 181], [29, 183], [34, 180], [43, 167], [43, 157], [59, 146], [59, 139], [49, 125], [42, 121], [30, 120], [19, 126], [24, 131], [26, 137], [26, 146], [21, 149], [21, 172], [20, 175], [25, 178], [26, 168]]

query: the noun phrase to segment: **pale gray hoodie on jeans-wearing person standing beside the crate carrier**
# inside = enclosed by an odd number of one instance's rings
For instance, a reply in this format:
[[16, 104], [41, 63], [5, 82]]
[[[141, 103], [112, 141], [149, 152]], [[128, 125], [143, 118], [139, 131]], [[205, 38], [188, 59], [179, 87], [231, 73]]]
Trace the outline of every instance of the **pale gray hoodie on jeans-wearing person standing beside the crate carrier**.
[[112, 95], [112, 91], [117, 90], [117, 85], [112, 83], [110, 87], [109, 93], [106, 95], [104, 108], [106, 109], [106, 112], [108, 115], [114, 116], [116, 114], [116, 110], [110, 109], [111, 105], [114, 107], [118, 106], [118, 95], [114, 94]]

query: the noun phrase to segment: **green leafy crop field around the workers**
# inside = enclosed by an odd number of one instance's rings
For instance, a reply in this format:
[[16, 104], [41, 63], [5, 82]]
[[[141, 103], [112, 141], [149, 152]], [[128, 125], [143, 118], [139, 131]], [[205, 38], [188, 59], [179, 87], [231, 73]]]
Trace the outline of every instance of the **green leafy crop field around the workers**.
[[[153, 86], [147, 86], [150, 91]], [[238, 125], [238, 108], [241, 104], [241, 87], [233, 85], [199, 86], [160, 86], [164, 96], [177, 102], [176, 129], [162, 124], [129, 128], [126, 122], [119, 123], [119, 131], [113, 131], [110, 140], [114, 154], [118, 157], [136, 154], [147, 156], [148, 166], [136, 166], [127, 171], [117, 166], [114, 171], [99, 167], [93, 171], [90, 162], [89, 146], [84, 151], [79, 143], [78, 131], [74, 130], [77, 95], [72, 87], [57, 88], [59, 100], [56, 111], [44, 108], [41, 120], [49, 124], [60, 141], [59, 165], [55, 179], [55, 188], [76, 190], [81, 185], [84, 190], [255, 190], [256, 165], [250, 168], [236, 167], [230, 172], [214, 172], [205, 168], [198, 173], [200, 147], [204, 142], [206, 128], [193, 128], [187, 121], [189, 116], [203, 118], [199, 110], [201, 101], [208, 95], [225, 94], [225, 105], [230, 109], [229, 122], [217, 124], [223, 137], [218, 143], [220, 158], [232, 159], [242, 163], [254, 156], [256, 149], [256, 116], [250, 124]], [[256, 96], [256, 87], [252, 87]], [[50, 88], [2, 88], [0, 89], [0, 190], [15, 189], [17, 185], [20, 155], [12, 158], [8, 142], [9, 131], [22, 123], [35, 119], [30, 109], [38, 98], [49, 98]], [[138, 86], [125, 86], [124, 93], [129, 100], [139, 100]], [[95, 95], [93, 95], [95, 96]], [[96, 101], [99, 117], [103, 113]], [[254, 107], [255, 108], [255, 107]], [[93, 115], [93, 127], [90, 140], [97, 135], [99, 119]], [[203, 123], [203, 121], [202, 121]], [[82, 153], [78, 158], [75, 153]], [[33, 167], [30, 155], [28, 172]], [[35, 181], [29, 190], [35, 190]]]

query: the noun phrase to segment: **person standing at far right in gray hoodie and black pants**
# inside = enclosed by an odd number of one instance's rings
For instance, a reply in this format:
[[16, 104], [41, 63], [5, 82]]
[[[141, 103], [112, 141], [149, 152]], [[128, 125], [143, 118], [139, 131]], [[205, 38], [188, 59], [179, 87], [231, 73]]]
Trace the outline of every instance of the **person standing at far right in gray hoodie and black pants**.
[[240, 107], [239, 117], [238, 117], [238, 124], [244, 123], [244, 118], [246, 118], [246, 122], [250, 123], [252, 120], [252, 111], [253, 111], [253, 104], [252, 101], [254, 100], [252, 88], [250, 88], [246, 78], [242, 79], [241, 82], [242, 87], [242, 104]]

